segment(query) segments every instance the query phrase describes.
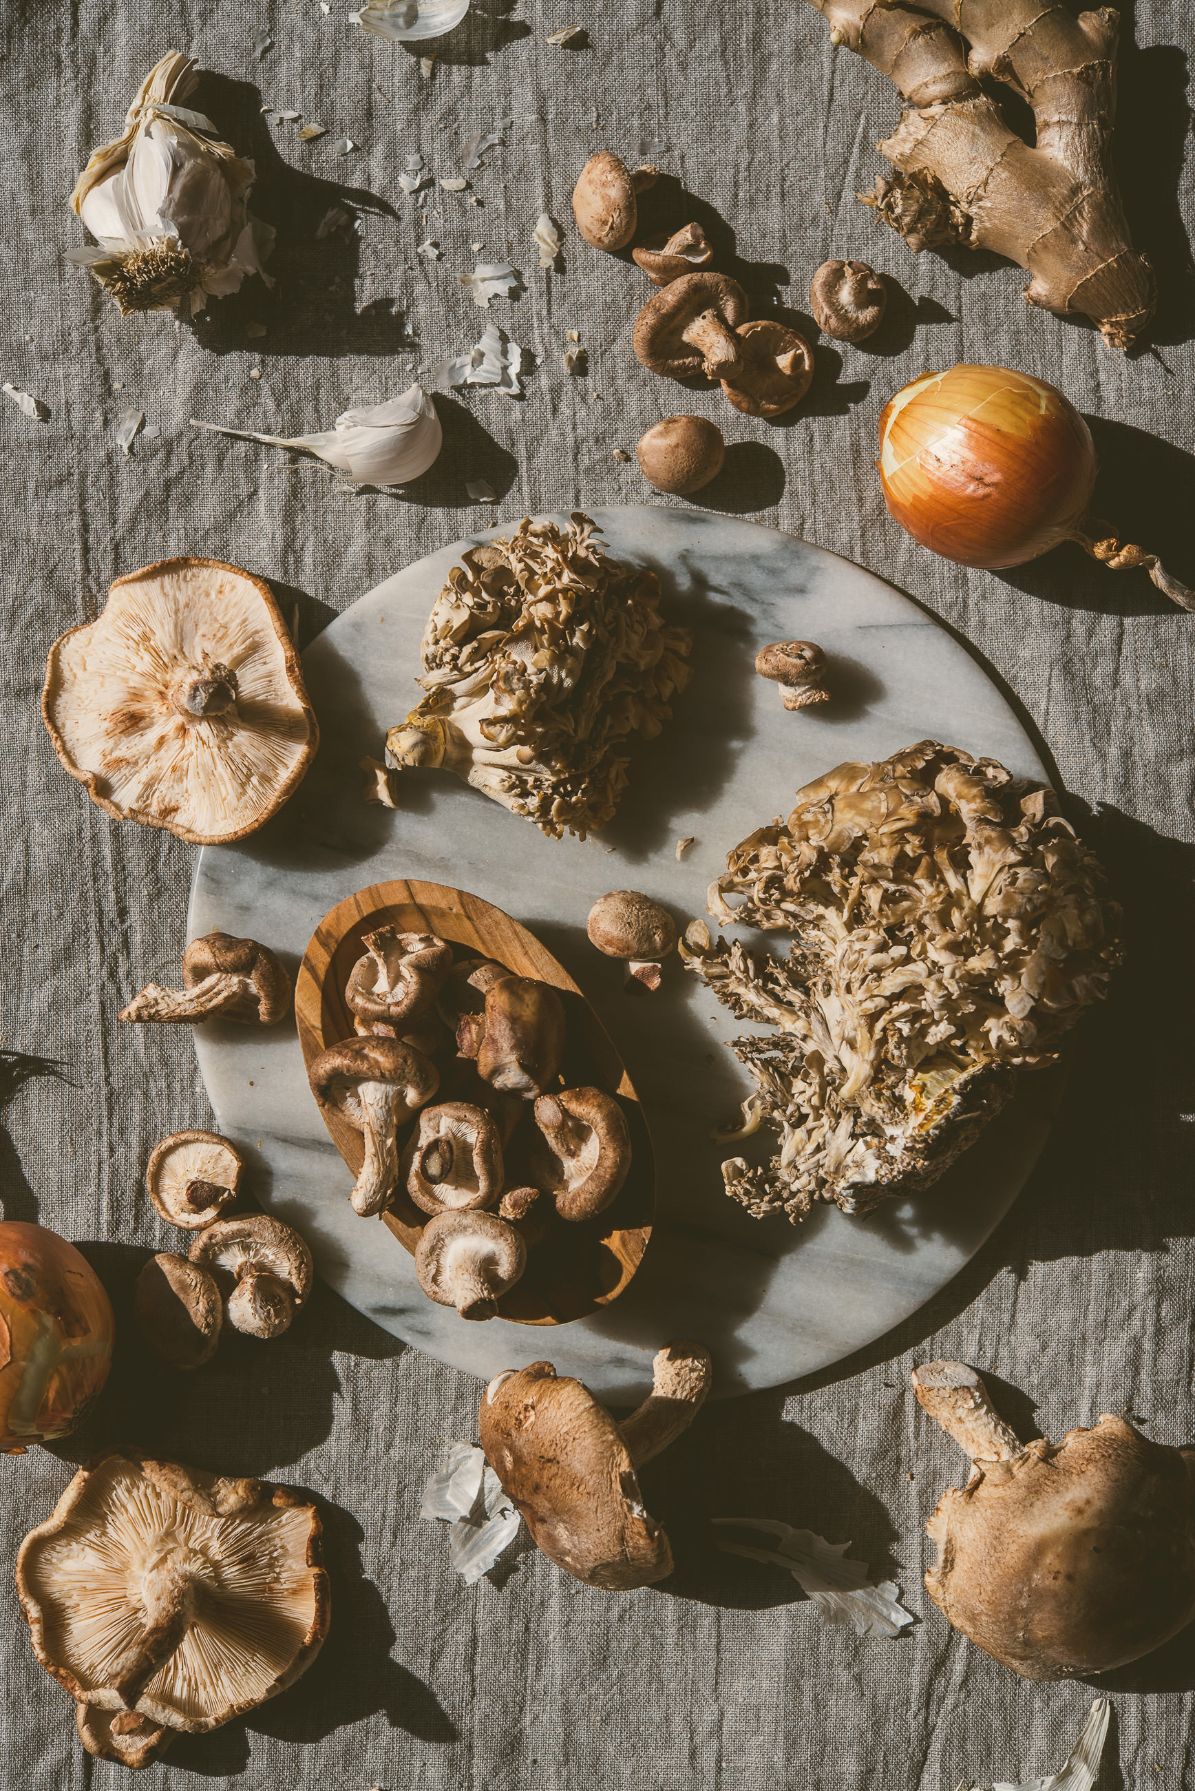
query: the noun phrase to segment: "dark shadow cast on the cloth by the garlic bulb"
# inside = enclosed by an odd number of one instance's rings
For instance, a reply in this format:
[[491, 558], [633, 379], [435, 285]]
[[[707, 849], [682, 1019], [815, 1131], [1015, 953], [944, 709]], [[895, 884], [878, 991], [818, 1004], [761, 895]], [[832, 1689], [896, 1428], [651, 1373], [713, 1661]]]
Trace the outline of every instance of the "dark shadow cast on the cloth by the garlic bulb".
[[[245, 279], [240, 292], [226, 299], [211, 299], [204, 312], [190, 321], [202, 347], [215, 355], [245, 351], [245, 324], [262, 322], [267, 335], [262, 349], [278, 355], [394, 355], [416, 349], [408, 337], [398, 301], [373, 299], [364, 310], [355, 304], [355, 283], [360, 274], [360, 238], [351, 227], [357, 213], [374, 213], [392, 219], [394, 279], [401, 279], [403, 253], [400, 249], [401, 219], [389, 201], [364, 188], [348, 186], [353, 161], [337, 163], [337, 176], [326, 177], [292, 167], [303, 158], [312, 167], [326, 165], [331, 131], [314, 143], [297, 138], [299, 122], [271, 127], [262, 116], [262, 93], [247, 81], [231, 81], [201, 70], [195, 95], [190, 102], [217, 125], [238, 156], [247, 156], [256, 167], [256, 183], [249, 195], [249, 210], [278, 235], [265, 270], [274, 279], [267, 287], [258, 276]], [[392, 124], [391, 124], [392, 129]], [[317, 236], [330, 210], [349, 213], [348, 224]], [[253, 344], [249, 344], [253, 346]], [[407, 373], [398, 373], [403, 385]], [[312, 428], [330, 419], [317, 419]]]

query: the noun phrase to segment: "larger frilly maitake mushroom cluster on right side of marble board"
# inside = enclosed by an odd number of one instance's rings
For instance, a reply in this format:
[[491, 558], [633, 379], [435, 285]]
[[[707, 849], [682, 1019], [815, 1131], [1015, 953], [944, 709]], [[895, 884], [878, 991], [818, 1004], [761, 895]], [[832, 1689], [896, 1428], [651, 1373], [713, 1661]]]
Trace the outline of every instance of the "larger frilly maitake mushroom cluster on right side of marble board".
[[726, 1191], [797, 1221], [813, 1200], [867, 1213], [937, 1180], [1104, 996], [1122, 949], [1100, 883], [1052, 790], [957, 747], [799, 790], [709, 888], [720, 921], [788, 931], [787, 958], [713, 944], [702, 921], [679, 947], [724, 1007], [776, 1028], [735, 1041], [756, 1089], [720, 1135], [767, 1123], [779, 1152], [731, 1157]]

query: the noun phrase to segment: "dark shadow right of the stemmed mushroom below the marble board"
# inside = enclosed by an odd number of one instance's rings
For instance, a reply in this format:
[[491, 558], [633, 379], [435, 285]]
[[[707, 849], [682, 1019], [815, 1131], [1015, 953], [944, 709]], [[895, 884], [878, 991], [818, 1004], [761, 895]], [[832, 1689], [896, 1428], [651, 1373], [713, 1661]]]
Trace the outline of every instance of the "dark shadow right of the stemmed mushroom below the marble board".
[[804, 1599], [783, 1567], [726, 1555], [718, 1542], [774, 1547], [760, 1531], [713, 1526], [715, 1517], [774, 1517], [828, 1542], [851, 1542], [851, 1560], [871, 1580], [894, 1576], [901, 1590], [917, 1576], [917, 1544], [901, 1544], [908, 1567], [892, 1564], [898, 1544], [881, 1501], [817, 1438], [785, 1422], [787, 1393], [776, 1388], [706, 1404], [697, 1422], [640, 1476], [643, 1503], [668, 1531], [675, 1572], [659, 1581], [674, 1598], [729, 1610], [772, 1610]]

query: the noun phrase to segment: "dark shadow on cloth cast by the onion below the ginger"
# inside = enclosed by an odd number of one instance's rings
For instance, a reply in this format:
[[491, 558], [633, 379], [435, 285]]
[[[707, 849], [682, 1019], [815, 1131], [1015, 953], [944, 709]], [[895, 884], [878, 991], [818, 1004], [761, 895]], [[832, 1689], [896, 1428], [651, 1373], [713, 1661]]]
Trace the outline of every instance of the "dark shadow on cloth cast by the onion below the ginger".
[[[1100, 460], [1091, 514], [1111, 523], [1122, 541], [1157, 553], [1174, 578], [1195, 587], [1195, 541], [1188, 519], [1195, 493], [1195, 455], [1129, 423], [1089, 416], [1088, 424]], [[1066, 609], [1086, 609], [1098, 616], [1174, 616], [1177, 625], [1184, 621], [1184, 613], [1163, 596], [1147, 571], [1109, 571], [1071, 544], [994, 577]]]

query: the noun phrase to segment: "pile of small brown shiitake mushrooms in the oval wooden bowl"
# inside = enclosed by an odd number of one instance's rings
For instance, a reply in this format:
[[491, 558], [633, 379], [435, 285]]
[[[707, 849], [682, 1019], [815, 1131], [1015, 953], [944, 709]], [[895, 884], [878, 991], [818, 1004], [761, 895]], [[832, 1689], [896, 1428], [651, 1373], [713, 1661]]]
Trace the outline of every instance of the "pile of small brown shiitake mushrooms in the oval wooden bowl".
[[355, 1037], [308, 1066], [321, 1109], [362, 1134], [362, 1218], [403, 1195], [426, 1214], [416, 1273], [428, 1298], [493, 1318], [557, 1225], [602, 1213], [631, 1168], [606, 1089], [564, 1087], [564, 1003], [491, 958], [453, 960], [434, 933], [362, 938], [344, 1001]]

